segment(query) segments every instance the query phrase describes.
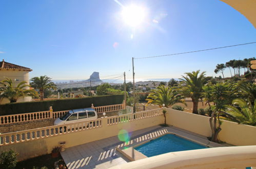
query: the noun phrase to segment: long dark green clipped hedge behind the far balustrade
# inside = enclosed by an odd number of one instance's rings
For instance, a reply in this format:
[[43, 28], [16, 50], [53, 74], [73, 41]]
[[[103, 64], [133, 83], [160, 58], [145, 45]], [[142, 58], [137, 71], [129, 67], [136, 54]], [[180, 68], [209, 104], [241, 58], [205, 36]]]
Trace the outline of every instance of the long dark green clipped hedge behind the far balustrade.
[[86, 98], [7, 103], [0, 104], [0, 115], [48, 111], [50, 106], [52, 106], [54, 112], [90, 108], [92, 103], [94, 107], [99, 107], [103, 105], [121, 104], [123, 100], [124, 95], [104, 95]]

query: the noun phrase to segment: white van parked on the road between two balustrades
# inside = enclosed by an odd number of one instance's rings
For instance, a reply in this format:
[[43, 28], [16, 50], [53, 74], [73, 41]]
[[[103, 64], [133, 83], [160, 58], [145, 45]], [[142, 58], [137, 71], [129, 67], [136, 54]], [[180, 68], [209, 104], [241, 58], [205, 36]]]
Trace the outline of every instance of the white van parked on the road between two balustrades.
[[54, 121], [54, 125], [70, 124], [75, 122], [94, 120], [97, 117], [98, 117], [97, 112], [94, 109], [91, 109], [91, 108], [75, 109], [75, 110], [70, 110], [64, 116], [57, 118]]

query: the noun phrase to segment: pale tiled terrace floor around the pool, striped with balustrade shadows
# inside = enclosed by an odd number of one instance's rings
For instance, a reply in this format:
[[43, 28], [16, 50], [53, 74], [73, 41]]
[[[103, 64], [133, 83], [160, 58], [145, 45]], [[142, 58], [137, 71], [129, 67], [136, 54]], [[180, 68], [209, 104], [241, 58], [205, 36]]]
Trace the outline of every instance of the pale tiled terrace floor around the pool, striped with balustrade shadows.
[[131, 133], [131, 139], [128, 144], [124, 144], [117, 136], [102, 140], [70, 147], [61, 155], [69, 169], [72, 168], [109, 168], [114, 165], [129, 162], [121, 153], [115, 150], [115, 147], [134, 146], [148, 139], [163, 135], [167, 132], [176, 133], [186, 138], [190, 138], [204, 144], [216, 147], [223, 146], [207, 140], [206, 137], [184, 131], [174, 127], [164, 128], [162, 126], [153, 126], [151, 128], [135, 131]]

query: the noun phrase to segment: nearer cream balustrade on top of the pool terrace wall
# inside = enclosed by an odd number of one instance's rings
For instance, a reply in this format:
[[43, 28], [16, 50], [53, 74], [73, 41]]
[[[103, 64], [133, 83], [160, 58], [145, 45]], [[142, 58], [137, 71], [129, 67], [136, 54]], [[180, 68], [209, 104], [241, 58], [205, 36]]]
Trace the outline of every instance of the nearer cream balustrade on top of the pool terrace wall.
[[162, 109], [155, 109], [155, 110], [150, 110], [145, 112], [125, 114], [120, 116], [98, 118], [95, 120], [84, 121], [84, 122], [77, 122], [77, 123], [64, 124], [64, 125], [53, 125], [45, 128], [5, 133], [5, 134], [0, 134], [0, 146], [20, 143], [25, 141], [32, 141], [37, 139], [43, 139], [43, 138], [48, 138], [53, 136], [59, 136], [59, 135], [73, 133], [73, 132], [80, 132], [80, 131], [95, 129], [95, 128], [107, 127], [109, 125], [115, 125], [122, 122], [141, 120], [144, 118], [160, 116], [162, 114], [163, 114]]

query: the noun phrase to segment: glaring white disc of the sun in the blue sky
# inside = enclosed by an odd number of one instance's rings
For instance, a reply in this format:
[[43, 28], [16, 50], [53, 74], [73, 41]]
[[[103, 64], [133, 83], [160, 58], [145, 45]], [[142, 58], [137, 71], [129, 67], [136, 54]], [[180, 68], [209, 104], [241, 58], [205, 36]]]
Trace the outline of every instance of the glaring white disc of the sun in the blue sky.
[[141, 25], [146, 17], [146, 10], [137, 5], [130, 5], [124, 7], [122, 10], [122, 17], [125, 24], [130, 27], [137, 27]]

